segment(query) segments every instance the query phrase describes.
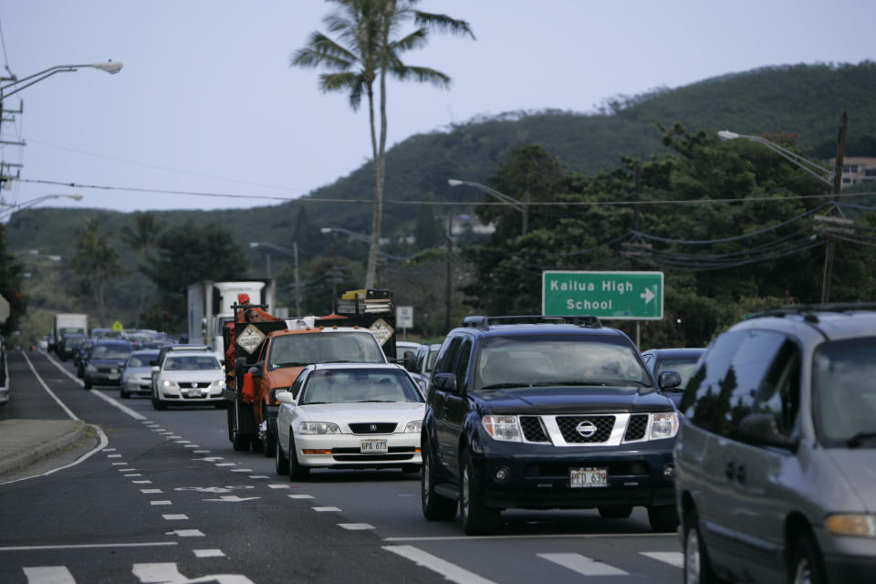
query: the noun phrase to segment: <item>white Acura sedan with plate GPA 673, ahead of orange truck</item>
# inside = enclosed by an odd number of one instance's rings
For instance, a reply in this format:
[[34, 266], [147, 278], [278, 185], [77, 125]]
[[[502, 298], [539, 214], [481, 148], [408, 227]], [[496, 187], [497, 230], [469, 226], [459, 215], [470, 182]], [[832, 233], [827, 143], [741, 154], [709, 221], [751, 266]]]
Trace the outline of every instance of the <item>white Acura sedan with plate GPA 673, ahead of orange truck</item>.
[[425, 403], [398, 365], [310, 365], [276, 400], [276, 474], [303, 481], [318, 467], [420, 472]]

